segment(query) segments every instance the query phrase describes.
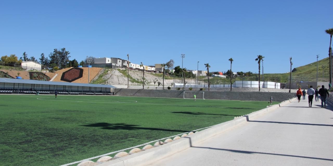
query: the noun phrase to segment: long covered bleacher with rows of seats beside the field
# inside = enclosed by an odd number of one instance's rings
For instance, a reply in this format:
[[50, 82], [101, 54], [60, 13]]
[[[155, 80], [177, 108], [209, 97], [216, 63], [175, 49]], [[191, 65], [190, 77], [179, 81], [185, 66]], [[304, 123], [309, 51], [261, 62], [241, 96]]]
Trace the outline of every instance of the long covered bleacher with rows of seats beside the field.
[[0, 94], [112, 95], [112, 85], [0, 78]]

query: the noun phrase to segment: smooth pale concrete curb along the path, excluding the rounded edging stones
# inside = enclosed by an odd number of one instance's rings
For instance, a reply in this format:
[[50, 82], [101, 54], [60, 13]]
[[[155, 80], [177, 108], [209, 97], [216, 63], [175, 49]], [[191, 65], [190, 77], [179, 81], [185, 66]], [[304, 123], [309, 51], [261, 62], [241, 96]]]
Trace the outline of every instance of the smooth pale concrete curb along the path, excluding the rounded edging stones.
[[[201, 142], [207, 138], [210, 138], [214, 135], [220, 134], [226, 130], [229, 130], [239, 124], [243, 124], [249, 119], [257, 118], [261, 115], [264, 115], [268, 112], [275, 110], [283, 105], [286, 105], [295, 99], [290, 99], [282, 102], [281, 104], [276, 104], [273, 106], [269, 106], [262, 110], [250, 113], [248, 115], [244, 115], [241, 117], [235, 117], [235, 119], [218, 124], [216, 126], [201, 130], [199, 132], [195, 132], [195, 134], [187, 135], [183, 138], [174, 140], [172, 142], [166, 143], [161, 146], [157, 146], [151, 149], [144, 150], [139, 153], [134, 153], [125, 157], [117, 158], [111, 161], [107, 161], [97, 166], [145, 166], [160, 159], [171, 156], [177, 152], [183, 151], [198, 142]], [[96, 163], [97, 164], [97, 163]], [[79, 164], [80, 165], [80, 164]]]

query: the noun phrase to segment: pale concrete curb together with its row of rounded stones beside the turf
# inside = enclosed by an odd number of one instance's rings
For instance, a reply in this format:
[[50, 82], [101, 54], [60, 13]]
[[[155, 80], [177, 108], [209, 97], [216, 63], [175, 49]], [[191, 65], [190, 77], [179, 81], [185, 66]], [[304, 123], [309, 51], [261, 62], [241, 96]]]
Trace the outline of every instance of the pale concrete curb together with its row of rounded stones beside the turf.
[[119, 152], [114, 158], [110, 156], [103, 156], [97, 160], [93, 161], [83, 161], [77, 166], [144, 166], [153, 163], [162, 158], [166, 158], [174, 153], [185, 150], [198, 142], [201, 142], [211, 136], [224, 132], [231, 129], [239, 124], [249, 121], [249, 119], [254, 119], [261, 115], [264, 115], [278, 107], [284, 106], [291, 101], [296, 100], [296, 98], [286, 100], [280, 104], [272, 105], [262, 110], [253, 112], [248, 115], [241, 117], [235, 117], [234, 120], [217, 124], [210, 128], [198, 131], [189, 132], [188, 134], [183, 134], [181, 137], [175, 136], [173, 139], [167, 138], [165, 141], [157, 141], [154, 146], [148, 144], [142, 149], [134, 148], [129, 153]]

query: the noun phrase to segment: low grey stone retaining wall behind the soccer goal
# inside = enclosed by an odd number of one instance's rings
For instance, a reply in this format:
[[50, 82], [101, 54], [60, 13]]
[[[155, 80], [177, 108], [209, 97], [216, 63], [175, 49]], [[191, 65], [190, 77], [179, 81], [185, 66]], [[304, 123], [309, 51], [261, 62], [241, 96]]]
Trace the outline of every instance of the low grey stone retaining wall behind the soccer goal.
[[[111, 91], [117, 96], [135, 96], [135, 97], [157, 97], [157, 98], [183, 98], [182, 90], [149, 90], [149, 89], [118, 89]], [[198, 91], [186, 91], [195, 93]], [[240, 100], [240, 101], [269, 101], [273, 97], [273, 101], [282, 102], [295, 97], [295, 93], [287, 92], [236, 92], [236, 91], [203, 91], [204, 99], [212, 100]], [[196, 94], [200, 99], [202, 92]]]

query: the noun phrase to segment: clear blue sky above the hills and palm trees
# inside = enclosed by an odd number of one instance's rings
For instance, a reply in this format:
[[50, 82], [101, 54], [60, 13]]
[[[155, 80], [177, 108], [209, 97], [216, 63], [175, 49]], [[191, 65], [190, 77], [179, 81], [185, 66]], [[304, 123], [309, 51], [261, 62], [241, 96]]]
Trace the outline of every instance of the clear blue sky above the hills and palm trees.
[[210, 71], [285, 73], [328, 57], [332, 0], [99, 0], [2, 1], [0, 56], [40, 58], [54, 48], [86, 56], [119, 57], [145, 65]]

